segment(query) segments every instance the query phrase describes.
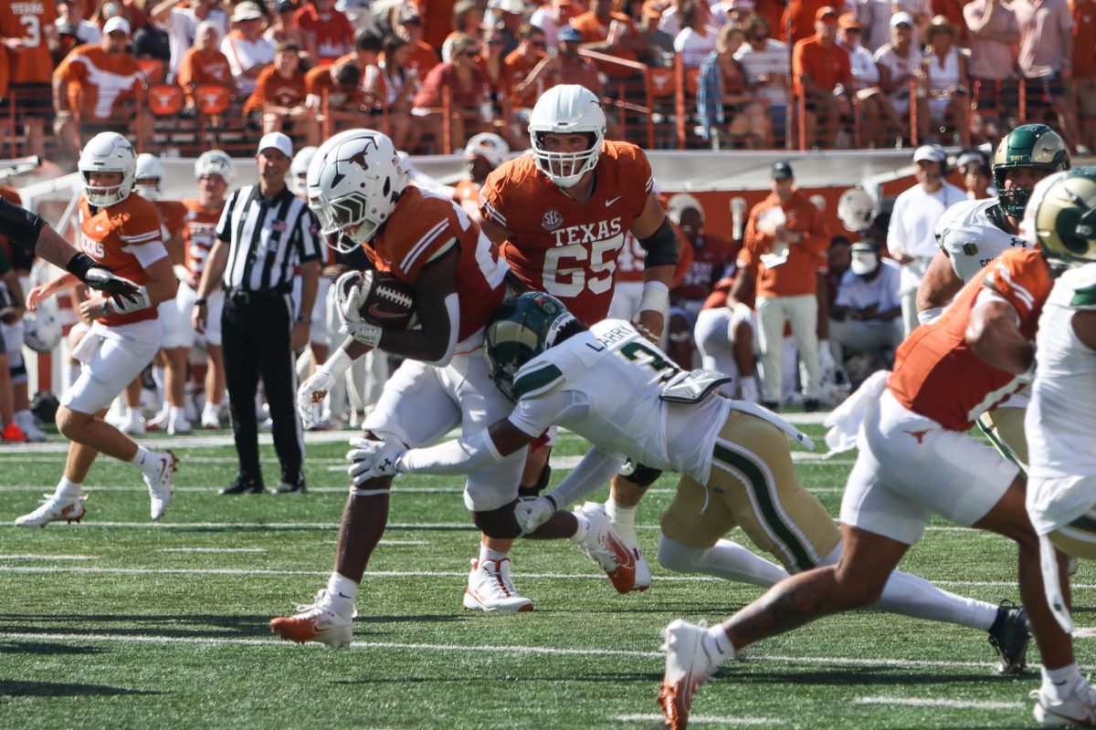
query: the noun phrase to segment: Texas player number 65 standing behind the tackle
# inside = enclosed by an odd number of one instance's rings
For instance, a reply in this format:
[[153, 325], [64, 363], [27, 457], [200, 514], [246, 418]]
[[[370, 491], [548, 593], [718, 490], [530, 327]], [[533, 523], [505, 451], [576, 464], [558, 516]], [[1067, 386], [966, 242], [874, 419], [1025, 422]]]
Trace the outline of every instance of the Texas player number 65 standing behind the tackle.
[[[628, 232], [646, 252], [643, 294], [637, 321], [644, 336], [662, 335], [677, 264], [677, 241], [654, 194], [647, 155], [635, 144], [605, 139], [605, 112], [597, 96], [575, 84], [544, 93], [529, 115], [533, 154], [491, 173], [480, 192], [480, 225], [510, 264], [513, 286], [547, 292], [586, 324], [605, 318], [613, 300], [617, 258]], [[546, 434], [546, 437], [549, 434]], [[537, 494], [549, 478], [548, 448], [535, 448], [522, 476], [523, 494]], [[628, 480], [613, 479], [606, 511], [636, 557], [638, 589], [650, 569], [636, 535], [636, 506], [657, 470], [637, 467]], [[503, 559], [510, 544], [483, 538], [480, 559]], [[515, 594], [490, 576], [468, 576], [469, 592], [483, 611]], [[503, 594], [505, 593], [505, 594]], [[471, 603], [471, 605], [469, 605]], [[525, 606], [523, 606], [525, 607]], [[528, 607], [532, 607], [529, 604]]]

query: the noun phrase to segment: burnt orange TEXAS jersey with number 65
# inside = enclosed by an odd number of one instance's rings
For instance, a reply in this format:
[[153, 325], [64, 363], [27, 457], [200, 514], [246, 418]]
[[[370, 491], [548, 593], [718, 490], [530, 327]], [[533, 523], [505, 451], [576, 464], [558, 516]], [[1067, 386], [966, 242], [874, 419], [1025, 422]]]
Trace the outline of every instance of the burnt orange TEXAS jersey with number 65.
[[540, 172], [533, 155], [503, 163], [480, 190], [480, 213], [511, 231], [502, 255], [529, 289], [560, 299], [585, 324], [604, 320], [617, 258], [654, 186], [643, 151], [604, 142], [584, 202]]

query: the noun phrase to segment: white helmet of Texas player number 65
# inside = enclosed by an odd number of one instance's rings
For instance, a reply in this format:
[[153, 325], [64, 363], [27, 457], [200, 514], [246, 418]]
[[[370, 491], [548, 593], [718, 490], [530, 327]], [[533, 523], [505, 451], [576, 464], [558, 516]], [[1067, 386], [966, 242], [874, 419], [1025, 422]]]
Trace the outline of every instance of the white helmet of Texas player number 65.
[[[546, 134], [590, 134], [593, 141], [581, 152], [549, 152], [544, 147]], [[583, 175], [597, 166], [605, 141], [605, 112], [597, 95], [578, 84], [552, 86], [533, 107], [529, 140], [537, 167], [551, 182], [560, 187], [578, 185]]]

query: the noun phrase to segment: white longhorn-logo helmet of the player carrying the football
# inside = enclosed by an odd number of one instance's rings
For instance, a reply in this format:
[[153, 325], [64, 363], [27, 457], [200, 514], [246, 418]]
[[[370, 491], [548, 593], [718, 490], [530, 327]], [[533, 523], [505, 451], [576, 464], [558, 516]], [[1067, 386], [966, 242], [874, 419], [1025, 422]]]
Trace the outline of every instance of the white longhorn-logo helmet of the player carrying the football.
[[308, 166], [308, 207], [328, 245], [346, 253], [373, 240], [407, 186], [408, 172], [392, 140], [379, 131], [351, 129], [316, 151]]

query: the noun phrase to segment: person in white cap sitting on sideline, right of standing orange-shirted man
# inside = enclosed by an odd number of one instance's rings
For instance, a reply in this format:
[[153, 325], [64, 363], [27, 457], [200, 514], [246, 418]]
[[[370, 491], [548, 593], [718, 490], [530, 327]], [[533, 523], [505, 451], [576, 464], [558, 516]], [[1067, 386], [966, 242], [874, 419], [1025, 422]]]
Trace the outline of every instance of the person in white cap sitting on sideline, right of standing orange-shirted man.
[[867, 360], [865, 367], [853, 368], [860, 375], [854, 382], [859, 382], [894, 361], [894, 349], [902, 341], [902, 275], [898, 264], [880, 256], [875, 242], [855, 243], [850, 253], [830, 308], [830, 347], [843, 368], [857, 356]]

